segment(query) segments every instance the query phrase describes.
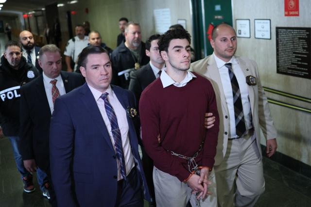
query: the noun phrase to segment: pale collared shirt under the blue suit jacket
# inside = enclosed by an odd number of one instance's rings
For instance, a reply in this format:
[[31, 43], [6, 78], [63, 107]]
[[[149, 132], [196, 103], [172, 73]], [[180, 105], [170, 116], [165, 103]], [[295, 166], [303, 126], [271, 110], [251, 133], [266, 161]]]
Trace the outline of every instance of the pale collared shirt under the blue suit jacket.
[[[112, 132], [111, 132], [110, 121], [109, 121], [109, 118], [108, 118], [107, 113], [105, 111], [104, 100], [101, 98], [103, 93], [96, 90], [95, 88], [91, 87], [90, 85], [88, 85], [88, 87], [91, 90], [91, 92], [95, 98], [96, 104], [99, 108], [99, 111], [101, 112], [101, 115], [104, 119], [104, 123], [107, 127], [111, 143], [113, 145], [114, 150], [116, 151], [115, 141], [113, 139]], [[126, 117], [127, 116], [126, 111], [122, 107], [120, 101], [118, 100], [117, 96], [114, 94], [110, 85], [105, 92], [108, 93], [108, 101], [109, 101], [110, 105], [112, 106], [112, 108], [115, 111], [115, 114], [117, 116], [118, 126], [119, 126], [120, 132], [121, 132], [122, 147], [123, 147], [123, 153], [124, 153], [124, 159], [125, 159], [126, 175], [128, 175], [131, 172], [132, 168], [135, 166], [135, 164], [134, 164], [133, 154], [131, 151], [131, 143], [130, 143], [130, 137], [129, 137], [129, 127], [128, 127], [128, 122], [127, 122], [127, 117]], [[119, 159], [117, 159], [117, 164], [118, 164], [118, 180], [121, 180], [122, 175], [121, 175], [121, 170], [120, 170]]]

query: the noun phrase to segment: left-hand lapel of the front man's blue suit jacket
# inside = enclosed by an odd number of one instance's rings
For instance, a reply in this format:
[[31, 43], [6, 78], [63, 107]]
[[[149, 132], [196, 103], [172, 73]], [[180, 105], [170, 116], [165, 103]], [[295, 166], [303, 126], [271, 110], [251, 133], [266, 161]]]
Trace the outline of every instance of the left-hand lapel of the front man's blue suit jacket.
[[108, 133], [107, 127], [104, 123], [102, 114], [99, 111], [94, 96], [86, 83], [81, 87], [81, 101], [85, 104], [86, 110], [89, 112], [90, 116], [94, 120], [94, 123], [97, 125], [98, 131], [102, 133], [105, 141], [110, 146], [111, 150], [115, 152], [110, 140], [110, 135]]

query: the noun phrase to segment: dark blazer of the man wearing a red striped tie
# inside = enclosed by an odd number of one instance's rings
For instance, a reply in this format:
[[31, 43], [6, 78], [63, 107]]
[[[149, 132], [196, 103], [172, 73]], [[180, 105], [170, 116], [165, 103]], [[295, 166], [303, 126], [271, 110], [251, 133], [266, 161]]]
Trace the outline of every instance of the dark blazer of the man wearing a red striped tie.
[[[66, 93], [81, 86], [80, 74], [61, 72]], [[42, 170], [49, 167], [49, 131], [51, 110], [45, 93], [43, 76], [20, 89], [20, 153], [23, 160], [35, 159]]]

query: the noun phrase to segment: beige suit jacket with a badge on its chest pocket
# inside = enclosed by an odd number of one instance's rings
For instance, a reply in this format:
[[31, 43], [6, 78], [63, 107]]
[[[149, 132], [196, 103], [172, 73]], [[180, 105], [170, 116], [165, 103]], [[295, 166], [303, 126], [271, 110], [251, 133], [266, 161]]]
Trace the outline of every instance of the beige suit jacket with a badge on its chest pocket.
[[[247, 86], [252, 111], [252, 123], [257, 137], [256, 143], [259, 149], [260, 156], [262, 156], [260, 150], [260, 140], [258, 139], [260, 137], [259, 128], [262, 129], [263, 135], [266, 139], [276, 138], [276, 128], [273, 125], [267, 97], [264, 95], [264, 91], [262, 89], [256, 62], [244, 57], [236, 56], [236, 58], [245, 77], [252, 75], [257, 79], [257, 85]], [[222, 162], [225, 157], [230, 130], [230, 119], [228, 107], [225, 100], [224, 89], [214, 55], [210, 55], [200, 61], [192, 63], [190, 70], [206, 77], [211, 82], [215, 91], [217, 108], [220, 118], [217, 153], [215, 156], [214, 164], [217, 166]]]

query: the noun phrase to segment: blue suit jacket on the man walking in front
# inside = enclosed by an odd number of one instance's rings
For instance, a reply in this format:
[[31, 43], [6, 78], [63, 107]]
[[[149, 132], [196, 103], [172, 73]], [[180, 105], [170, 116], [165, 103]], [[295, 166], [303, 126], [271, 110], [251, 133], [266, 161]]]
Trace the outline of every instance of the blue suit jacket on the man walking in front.
[[[121, 105], [135, 106], [134, 95], [111, 86]], [[150, 200], [132, 118], [127, 116], [132, 153]], [[85, 83], [60, 96], [50, 127], [52, 182], [58, 207], [113, 207], [117, 196], [117, 160], [104, 120]]]

